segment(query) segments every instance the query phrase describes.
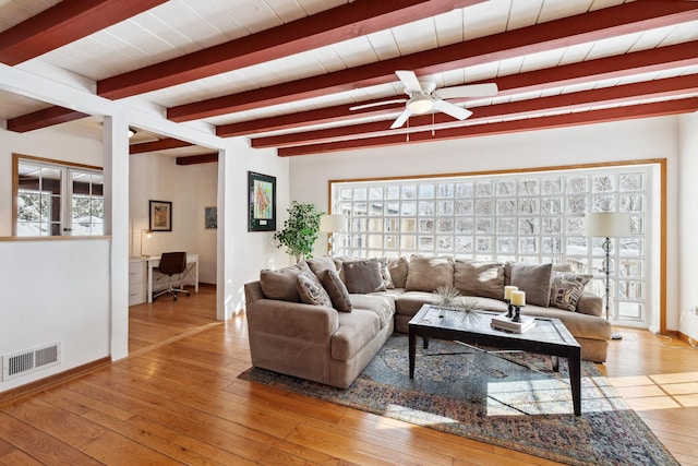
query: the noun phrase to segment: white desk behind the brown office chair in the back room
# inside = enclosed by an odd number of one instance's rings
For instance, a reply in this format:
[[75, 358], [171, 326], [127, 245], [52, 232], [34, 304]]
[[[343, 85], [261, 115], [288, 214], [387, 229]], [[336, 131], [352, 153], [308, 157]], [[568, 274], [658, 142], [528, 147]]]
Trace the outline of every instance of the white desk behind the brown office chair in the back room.
[[[159, 255], [129, 260], [129, 306], [153, 302], [154, 271], [158, 265], [160, 265]], [[147, 279], [145, 279], [146, 276]], [[182, 274], [182, 283], [194, 285], [194, 289], [198, 292], [198, 254], [186, 253], [186, 271]]]

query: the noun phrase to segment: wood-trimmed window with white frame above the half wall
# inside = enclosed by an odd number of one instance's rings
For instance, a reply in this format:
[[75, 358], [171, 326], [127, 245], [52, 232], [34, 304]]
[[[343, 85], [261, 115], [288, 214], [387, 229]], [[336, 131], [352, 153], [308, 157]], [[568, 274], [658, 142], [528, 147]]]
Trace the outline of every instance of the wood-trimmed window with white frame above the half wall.
[[101, 169], [14, 155], [15, 236], [104, 235]]

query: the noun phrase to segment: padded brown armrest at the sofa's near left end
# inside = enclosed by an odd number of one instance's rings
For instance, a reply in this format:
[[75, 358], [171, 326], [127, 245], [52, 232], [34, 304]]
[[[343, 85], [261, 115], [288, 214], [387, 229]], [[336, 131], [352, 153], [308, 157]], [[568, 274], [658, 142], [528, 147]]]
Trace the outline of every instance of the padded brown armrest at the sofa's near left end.
[[339, 327], [337, 311], [324, 306], [256, 299], [248, 302], [245, 312], [250, 334], [327, 342]]

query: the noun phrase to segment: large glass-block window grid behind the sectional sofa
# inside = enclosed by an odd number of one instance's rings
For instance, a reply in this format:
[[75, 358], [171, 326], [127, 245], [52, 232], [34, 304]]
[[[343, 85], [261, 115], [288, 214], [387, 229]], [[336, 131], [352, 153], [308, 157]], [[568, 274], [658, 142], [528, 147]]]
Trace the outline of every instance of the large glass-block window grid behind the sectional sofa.
[[604, 238], [585, 236], [585, 215], [629, 212], [633, 237], [611, 239], [611, 318], [645, 322], [652, 167], [333, 182], [332, 212], [349, 218], [338, 253], [570, 264], [604, 296]]

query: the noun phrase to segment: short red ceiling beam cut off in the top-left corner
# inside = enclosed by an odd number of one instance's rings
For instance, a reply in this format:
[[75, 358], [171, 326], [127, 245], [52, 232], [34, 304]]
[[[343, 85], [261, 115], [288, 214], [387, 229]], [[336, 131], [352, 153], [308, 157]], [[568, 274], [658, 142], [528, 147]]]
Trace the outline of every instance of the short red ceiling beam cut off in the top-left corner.
[[0, 61], [14, 67], [167, 0], [63, 0], [0, 33]]

